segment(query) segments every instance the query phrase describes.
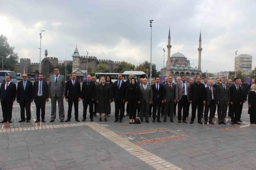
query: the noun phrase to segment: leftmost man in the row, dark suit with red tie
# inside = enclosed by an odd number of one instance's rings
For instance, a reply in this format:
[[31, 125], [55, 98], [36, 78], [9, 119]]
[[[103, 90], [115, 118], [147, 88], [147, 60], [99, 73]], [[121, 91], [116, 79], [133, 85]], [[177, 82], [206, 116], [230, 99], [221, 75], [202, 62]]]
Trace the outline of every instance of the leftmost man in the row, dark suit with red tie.
[[0, 97], [1, 97], [1, 106], [3, 112], [3, 121], [12, 123], [12, 111], [13, 111], [13, 102], [16, 98], [16, 84], [11, 82], [12, 77], [6, 76], [5, 82], [1, 84], [0, 88]]

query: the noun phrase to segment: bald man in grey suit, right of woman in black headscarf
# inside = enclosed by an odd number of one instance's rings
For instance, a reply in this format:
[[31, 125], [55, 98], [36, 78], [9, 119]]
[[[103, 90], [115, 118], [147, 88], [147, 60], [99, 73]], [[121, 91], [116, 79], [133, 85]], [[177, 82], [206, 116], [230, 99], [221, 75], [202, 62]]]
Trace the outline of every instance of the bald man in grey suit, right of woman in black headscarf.
[[148, 111], [149, 111], [149, 104], [153, 103], [153, 91], [152, 91], [152, 87], [149, 86], [147, 83], [148, 83], [148, 79], [143, 78], [143, 85], [140, 85], [140, 90], [141, 90], [140, 120], [141, 122], [143, 122], [143, 117], [145, 116], [146, 122], [149, 123]]

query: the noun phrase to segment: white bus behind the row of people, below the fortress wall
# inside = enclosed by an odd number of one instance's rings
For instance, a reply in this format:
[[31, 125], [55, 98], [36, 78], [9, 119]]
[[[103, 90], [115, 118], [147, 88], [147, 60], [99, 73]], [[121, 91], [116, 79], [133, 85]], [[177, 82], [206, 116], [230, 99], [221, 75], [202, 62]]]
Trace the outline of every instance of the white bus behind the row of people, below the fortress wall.
[[[111, 81], [115, 82], [117, 81], [117, 75], [120, 73], [95, 73], [96, 81], [100, 82], [100, 78], [102, 76], [106, 77], [107, 75], [111, 76]], [[148, 74], [144, 73], [143, 71], [125, 71], [121, 73], [123, 75], [124, 80], [129, 79], [129, 75], [133, 74], [134, 78], [137, 80], [137, 82], [140, 81], [140, 78], [148, 78]]]

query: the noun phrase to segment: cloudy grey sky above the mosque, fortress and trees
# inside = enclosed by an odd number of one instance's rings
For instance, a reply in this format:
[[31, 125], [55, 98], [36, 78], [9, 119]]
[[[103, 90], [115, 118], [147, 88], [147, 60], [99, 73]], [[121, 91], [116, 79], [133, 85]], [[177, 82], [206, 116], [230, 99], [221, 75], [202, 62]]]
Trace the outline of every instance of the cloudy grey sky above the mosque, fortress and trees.
[[[202, 71], [234, 71], [235, 51], [251, 54], [255, 67], [256, 1], [0, 1], [0, 34], [8, 37], [20, 58], [39, 63], [42, 57], [72, 59], [75, 45], [80, 55], [127, 61], [150, 61], [163, 67], [169, 26], [171, 55], [183, 53], [198, 65], [198, 41], [202, 35]], [[192, 64], [191, 64], [192, 66]]]

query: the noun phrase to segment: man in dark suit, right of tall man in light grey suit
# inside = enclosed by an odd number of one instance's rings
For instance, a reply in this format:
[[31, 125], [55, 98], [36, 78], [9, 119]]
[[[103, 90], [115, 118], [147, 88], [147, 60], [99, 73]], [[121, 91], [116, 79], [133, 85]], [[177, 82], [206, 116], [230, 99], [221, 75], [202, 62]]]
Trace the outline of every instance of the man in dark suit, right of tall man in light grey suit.
[[[80, 85], [80, 82], [76, 80], [76, 78], [77, 78], [76, 73], [71, 73], [71, 79], [66, 82], [65, 99], [69, 104], [69, 109], [68, 109], [67, 120], [65, 120], [65, 122], [69, 122], [71, 119], [73, 103], [74, 103], [74, 108], [75, 108], [75, 120], [77, 122], [80, 122], [80, 120], [78, 119], [78, 103], [81, 100], [81, 98], [80, 98], [81, 97], [81, 85]], [[86, 110], [87, 110], [87, 107], [86, 107]], [[93, 112], [92, 112], [92, 114], [93, 114]]]

